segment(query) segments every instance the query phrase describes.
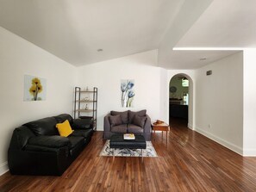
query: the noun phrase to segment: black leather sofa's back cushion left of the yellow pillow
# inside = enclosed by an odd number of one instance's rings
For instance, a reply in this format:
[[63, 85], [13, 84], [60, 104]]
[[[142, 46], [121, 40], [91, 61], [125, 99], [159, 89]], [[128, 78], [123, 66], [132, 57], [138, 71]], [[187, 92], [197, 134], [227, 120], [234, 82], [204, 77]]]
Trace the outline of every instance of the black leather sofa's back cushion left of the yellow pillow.
[[37, 121], [31, 121], [23, 126], [28, 127], [35, 135], [59, 135], [56, 128], [57, 121], [53, 117], [47, 117]]

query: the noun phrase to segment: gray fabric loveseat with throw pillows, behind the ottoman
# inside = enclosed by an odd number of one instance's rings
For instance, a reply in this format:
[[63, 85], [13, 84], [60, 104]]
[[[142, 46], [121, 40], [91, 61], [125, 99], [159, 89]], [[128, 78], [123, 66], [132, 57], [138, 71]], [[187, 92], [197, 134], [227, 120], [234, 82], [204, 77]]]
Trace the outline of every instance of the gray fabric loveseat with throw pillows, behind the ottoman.
[[147, 110], [134, 111], [110, 111], [104, 117], [103, 139], [110, 139], [116, 133], [140, 134], [146, 140], [151, 140], [151, 119]]

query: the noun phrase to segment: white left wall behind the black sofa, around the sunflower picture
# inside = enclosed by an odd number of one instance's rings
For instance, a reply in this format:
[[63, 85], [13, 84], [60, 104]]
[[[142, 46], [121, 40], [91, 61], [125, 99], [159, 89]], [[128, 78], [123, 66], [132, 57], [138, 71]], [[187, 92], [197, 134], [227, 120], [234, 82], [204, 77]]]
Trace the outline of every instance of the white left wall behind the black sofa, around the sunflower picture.
[[[75, 67], [0, 28], [0, 175], [15, 127], [60, 113], [72, 114]], [[47, 79], [47, 100], [23, 102], [24, 75]]]

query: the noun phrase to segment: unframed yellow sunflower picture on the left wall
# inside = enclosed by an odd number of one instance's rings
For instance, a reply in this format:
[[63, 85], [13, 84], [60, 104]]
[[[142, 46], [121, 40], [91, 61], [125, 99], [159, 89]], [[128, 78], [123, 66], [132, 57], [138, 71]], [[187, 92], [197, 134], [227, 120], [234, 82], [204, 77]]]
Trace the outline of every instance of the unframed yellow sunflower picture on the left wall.
[[24, 76], [24, 101], [44, 101], [47, 98], [47, 79]]

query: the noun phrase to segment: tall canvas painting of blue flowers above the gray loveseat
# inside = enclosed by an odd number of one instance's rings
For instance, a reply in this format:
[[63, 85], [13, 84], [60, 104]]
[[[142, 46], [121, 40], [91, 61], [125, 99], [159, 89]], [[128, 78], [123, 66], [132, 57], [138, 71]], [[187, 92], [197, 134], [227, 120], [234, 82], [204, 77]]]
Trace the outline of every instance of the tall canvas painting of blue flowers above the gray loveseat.
[[122, 108], [131, 108], [134, 102], [134, 80], [121, 80], [121, 105]]

